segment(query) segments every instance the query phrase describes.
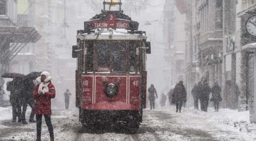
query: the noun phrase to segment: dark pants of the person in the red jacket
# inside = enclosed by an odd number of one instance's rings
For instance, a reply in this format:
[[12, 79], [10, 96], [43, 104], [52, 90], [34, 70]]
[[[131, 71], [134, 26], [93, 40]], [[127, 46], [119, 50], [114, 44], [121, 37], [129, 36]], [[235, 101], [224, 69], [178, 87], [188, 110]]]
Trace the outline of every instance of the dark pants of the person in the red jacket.
[[[41, 137], [41, 130], [42, 130], [42, 116], [40, 114], [36, 114], [35, 118], [37, 120], [37, 137]], [[50, 133], [50, 138], [54, 138], [53, 127], [51, 122], [51, 115], [44, 115], [45, 116], [45, 123], [48, 127], [48, 131]]]

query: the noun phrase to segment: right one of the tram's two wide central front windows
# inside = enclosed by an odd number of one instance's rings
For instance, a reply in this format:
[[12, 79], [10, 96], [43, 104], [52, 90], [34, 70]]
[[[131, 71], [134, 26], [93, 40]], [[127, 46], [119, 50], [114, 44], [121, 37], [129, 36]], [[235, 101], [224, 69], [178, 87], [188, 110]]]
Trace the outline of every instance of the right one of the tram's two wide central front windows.
[[113, 43], [113, 68], [112, 71], [126, 71], [126, 44], [122, 42]]

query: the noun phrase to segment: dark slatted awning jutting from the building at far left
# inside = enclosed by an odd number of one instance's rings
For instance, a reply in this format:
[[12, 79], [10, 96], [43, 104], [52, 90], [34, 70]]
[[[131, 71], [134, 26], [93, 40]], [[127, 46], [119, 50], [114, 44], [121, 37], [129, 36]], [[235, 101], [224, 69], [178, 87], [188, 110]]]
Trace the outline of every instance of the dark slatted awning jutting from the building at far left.
[[0, 42], [35, 43], [40, 38], [34, 27], [0, 26]]

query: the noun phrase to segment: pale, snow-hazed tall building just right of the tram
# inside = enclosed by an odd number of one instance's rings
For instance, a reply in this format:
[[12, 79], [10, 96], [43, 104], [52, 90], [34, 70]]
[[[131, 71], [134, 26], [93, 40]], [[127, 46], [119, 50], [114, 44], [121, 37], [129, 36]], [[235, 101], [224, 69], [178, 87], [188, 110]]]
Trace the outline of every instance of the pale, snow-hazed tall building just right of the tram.
[[176, 85], [178, 81], [185, 81], [184, 55], [185, 55], [185, 14], [180, 13], [174, 6], [174, 0], [166, 0], [164, 7], [164, 39], [165, 60], [168, 68], [165, 75], [169, 86]]

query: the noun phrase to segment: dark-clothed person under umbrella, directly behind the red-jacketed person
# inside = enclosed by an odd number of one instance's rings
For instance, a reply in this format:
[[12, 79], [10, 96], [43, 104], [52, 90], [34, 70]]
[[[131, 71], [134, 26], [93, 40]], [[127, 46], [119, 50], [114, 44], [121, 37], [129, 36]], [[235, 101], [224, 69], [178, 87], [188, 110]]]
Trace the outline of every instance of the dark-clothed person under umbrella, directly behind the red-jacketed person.
[[35, 83], [33, 82], [33, 78], [26, 79], [23, 81], [23, 89], [22, 89], [22, 114], [21, 114], [21, 120], [23, 124], [28, 124], [26, 122], [26, 110], [27, 106], [29, 105], [31, 107], [31, 113], [30, 113], [30, 119], [29, 122], [35, 123], [34, 120], [35, 114], [35, 100], [32, 98], [33, 92], [35, 89]]

